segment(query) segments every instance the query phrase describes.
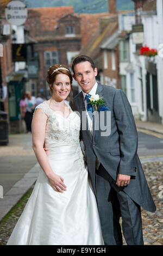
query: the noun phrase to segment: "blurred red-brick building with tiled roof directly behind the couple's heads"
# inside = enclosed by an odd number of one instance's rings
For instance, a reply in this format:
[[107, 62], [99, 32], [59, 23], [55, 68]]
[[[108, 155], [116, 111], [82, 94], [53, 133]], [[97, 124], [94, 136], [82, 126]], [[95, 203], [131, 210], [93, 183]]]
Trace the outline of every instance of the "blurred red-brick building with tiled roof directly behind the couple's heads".
[[[35, 94], [49, 97], [46, 74], [55, 63], [70, 65], [99, 28], [102, 14], [75, 14], [73, 7], [29, 8], [26, 28], [37, 41], [34, 54], [39, 59], [39, 78], [28, 84]], [[78, 90], [78, 88], [74, 88]]]

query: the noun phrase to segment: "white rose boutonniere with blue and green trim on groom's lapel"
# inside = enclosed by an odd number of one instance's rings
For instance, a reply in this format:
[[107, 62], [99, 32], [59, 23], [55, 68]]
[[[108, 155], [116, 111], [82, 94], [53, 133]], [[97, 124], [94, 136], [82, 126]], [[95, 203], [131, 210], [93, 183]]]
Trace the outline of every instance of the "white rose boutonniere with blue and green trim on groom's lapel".
[[97, 111], [104, 111], [106, 109], [109, 109], [108, 107], [105, 106], [105, 101], [103, 100], [103, 96], [99, 96], [98, 94], [91, 95], [89, 99], [89, 104], [92, 105], [92, 107], [95, 107], [95, 110]]

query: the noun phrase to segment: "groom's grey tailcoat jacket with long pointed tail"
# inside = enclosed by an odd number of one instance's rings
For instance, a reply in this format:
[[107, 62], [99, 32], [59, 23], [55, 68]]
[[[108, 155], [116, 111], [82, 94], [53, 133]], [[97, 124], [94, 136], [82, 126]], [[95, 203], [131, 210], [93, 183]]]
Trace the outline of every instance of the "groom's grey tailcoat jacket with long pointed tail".
[[[97, 156], [114, 180], [117, 179], [118, 173], [130, 175], [130, 183], [123, 187], [123, 191], [143, 209], [154, 212], [156, 210], [155, 204], [137, 156], [137, 130], [127, 96], [121, 89], [101, 84], [98, 84], [96, 94], [104, 97], [105, 106], [109, 108], [103, 111], [105, 121], [107, 120], [107, 114], [108, 120], [110, 120], [105, 122], [107, 127], [110, 126], [110, 133], [107, 136], [102, 136], [102, 132], [104, 132], [103, 119], [94, 116], [93, 136], [89, 129], [85, 129], [85, 127], [82, 129], [82, 123], [85, 123], [86, 119], [82, 92], [70, 102], [73, 111], [80, 114], [80, 135], [84, 142], [85, 159], [93, 189], [96, 193], [95, 162]], [[99, 112], [99, 114], [101, 113]]]

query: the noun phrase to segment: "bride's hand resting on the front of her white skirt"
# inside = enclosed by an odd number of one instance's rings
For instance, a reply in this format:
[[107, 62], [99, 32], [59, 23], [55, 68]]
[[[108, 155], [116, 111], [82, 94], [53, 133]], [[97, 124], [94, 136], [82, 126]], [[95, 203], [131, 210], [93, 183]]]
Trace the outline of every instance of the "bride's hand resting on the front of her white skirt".
[[49, 182], [56, 192], [63, 193], [66, 191], [66, 185], [64, 184], [64, 179], [61, 176], [53, 173], [51, 176], [48, 176]]

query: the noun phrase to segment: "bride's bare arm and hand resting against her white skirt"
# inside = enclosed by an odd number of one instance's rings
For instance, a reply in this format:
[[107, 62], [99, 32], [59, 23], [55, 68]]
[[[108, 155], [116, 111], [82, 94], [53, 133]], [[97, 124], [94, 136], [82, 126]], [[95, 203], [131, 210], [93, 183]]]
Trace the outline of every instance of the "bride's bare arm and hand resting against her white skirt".
[[43, 144], [45, 142], [46, 122], [47, 115], [42, 112], [41, 108], [36, 109], [32, 120], [33, 150], [37, 161], [47, 175], [53, 189], [57, 192], [63, 192], [66, 191], [64, 180], [61, 178], [61, 176], [53, 172], [48, 162], [47, 154], [43, 149]]

